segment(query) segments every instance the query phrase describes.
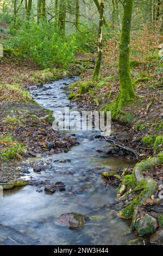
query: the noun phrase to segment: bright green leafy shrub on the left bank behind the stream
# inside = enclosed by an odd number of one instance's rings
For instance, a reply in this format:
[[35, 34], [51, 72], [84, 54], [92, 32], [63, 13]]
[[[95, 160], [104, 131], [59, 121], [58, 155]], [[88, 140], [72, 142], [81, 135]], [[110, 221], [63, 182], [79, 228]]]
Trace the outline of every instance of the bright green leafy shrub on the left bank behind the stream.
[[57, 34], [54, 24], [37, 25], [35, 21], [24, 22], [7, 45], [15, 56], [29, 57], [41, 68], [51, 68], [54, 64], [66, 67], [77, 47], [74, 36], [64, 38]]

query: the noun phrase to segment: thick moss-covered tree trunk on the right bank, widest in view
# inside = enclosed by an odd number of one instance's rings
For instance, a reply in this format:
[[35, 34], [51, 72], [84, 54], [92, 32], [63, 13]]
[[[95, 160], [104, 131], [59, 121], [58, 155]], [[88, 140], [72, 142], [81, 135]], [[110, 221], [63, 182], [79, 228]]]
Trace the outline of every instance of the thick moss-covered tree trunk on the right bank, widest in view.
[[133, 13], [133, 0], [123, 0], [123, 19], [120, 41], [119, 57], [119, 77], [120, 77], [120, 96], [119, 103], [128, 102], [135, 97], [130, 76], [130, 29], [131, 17]]

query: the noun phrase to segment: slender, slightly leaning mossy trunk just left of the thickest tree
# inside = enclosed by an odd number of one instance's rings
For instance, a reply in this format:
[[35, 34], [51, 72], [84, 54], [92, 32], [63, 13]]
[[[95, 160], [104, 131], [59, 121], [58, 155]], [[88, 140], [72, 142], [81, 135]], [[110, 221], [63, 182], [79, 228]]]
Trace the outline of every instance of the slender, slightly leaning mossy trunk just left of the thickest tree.
[[103, 20], [104, 20], [104, 0], [100, 2], [100, 11], [99, 11], [99, 28], [98, 28], [98, 56], [96, 60], [95, 70], [93, 72], [93, 80], [96, 81], [99, 78], [101, 71], [102, 63], [102, 53], [103, 53], [103, 43], [102, 43], [102, 34], [103, 34]]

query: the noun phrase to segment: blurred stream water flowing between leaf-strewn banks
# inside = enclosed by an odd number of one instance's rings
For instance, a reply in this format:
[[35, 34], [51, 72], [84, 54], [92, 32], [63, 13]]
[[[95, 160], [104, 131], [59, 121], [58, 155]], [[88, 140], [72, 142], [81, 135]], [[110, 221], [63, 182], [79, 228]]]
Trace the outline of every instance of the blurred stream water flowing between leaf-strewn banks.
[[[76, 106], [68, 101], [62, 86], [68, 86], [76, 79], [65, 78], [44, 84], [30, 93], [41, 106], [52, 111], [65, 106], [74, 109]], [[95, 131], [73, 133], [76, 133], [78, 145], [68, 153], [42, 159], [50, 165], [40, 174], [29, 169], [29, 176], [36, 179], [64, 182], [66, 191], [45, 194], [44, 191], [37, 192], [35, 186], [25, 186], [5, 192], [0, 199], [0, 244], [127, 245], [135, 238], [129, 232], [128, 223], [118, 218], [116, 209], [109, 206], [115, 202], [116, 190], [105, 184], [99, 170], [126, 167], [132, 162], [97, 153], [96, 149], [107, 148], [108, 143], [95, 138]], [[55, 222], [57, 217], [68, 212], [86, 217], [82, 229], [72, 230]]]

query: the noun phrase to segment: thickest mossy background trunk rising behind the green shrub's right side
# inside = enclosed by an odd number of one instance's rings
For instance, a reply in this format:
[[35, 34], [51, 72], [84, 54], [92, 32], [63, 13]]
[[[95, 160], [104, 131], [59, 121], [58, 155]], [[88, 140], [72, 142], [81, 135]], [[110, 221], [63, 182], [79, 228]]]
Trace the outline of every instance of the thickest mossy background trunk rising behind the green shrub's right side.
[[59, 33], [62, 36], [65, 36], [65, 20], [66, 20], [66, 0], [61, 0], [59, 3], [58, 28], [59, 28]]

